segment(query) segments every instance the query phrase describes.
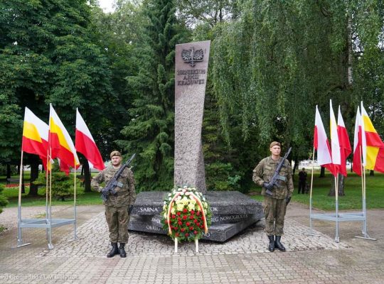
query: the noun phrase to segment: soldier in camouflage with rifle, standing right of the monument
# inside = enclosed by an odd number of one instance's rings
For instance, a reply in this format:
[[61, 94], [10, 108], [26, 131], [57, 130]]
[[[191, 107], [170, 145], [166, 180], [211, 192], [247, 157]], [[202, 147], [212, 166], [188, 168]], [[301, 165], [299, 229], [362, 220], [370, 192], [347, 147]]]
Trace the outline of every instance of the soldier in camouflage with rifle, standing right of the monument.
[[[280, 239], [283, 234], [287, 204], [291, 200], [294, 190], [292, 168], [289, 161], [285, 160], [282, 169], [279, 171], [279, 179], [275, 185], [270, 185], [274, 171], [282, 159], [280, 157], [280, 143], [272, 142], [270, 144], [270, 151], [272, 155], [262, 159], [253, 170], [252, 180], [262, 187], [262, 195], [264, 195], [262, 205], [265, 215], [265, 232], [268, 239], [270, 239], [268, 249], [274, 251], [274, 248], [277, 248], [279, 251], [285, 251]], [[272, 195], [267, 195], [267, 190], [270, 190]]]

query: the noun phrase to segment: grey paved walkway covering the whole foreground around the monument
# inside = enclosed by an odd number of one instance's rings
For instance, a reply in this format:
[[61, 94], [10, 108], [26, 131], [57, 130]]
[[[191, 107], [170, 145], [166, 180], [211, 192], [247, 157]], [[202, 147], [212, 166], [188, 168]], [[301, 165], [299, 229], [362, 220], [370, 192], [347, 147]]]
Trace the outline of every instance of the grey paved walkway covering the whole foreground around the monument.
[[[38, 212], [41, 210], [42, 212]], [[108, 232], [102, 206], [78, 207], [78, 240], [73, 225], [53, 229], [53, 250], [45, 230], [23, 229], [30, 246], [16, 246], [12, 220], [16, 208], [0, 214], [0, 224], [11, 228], [0, 236], [0, 283], [383, 283], [384, 210], [368, 211], [370, 236], [356, 239], [361, 223], [340, 224], [341, 242], [334, 242], [334, 222], [314, 222], [317, 236], [309, 233], [309, 210], [292, 203], [287, 211], [287, 252], [267, 251], [267, 238], [252, 226], [224, 244], [201, 241], [174, 244], [167, 236], [134, 232], [127, 258], [107, 258]], [[24, 209], [23, 217], [44, 208]], [[2, 216], [3, 215], [3, 216]], [[73, 207], [56, 207], [55, 217], [72, 218]], [[11, 222], [9, 221], [11, 219]], [[8, 220], [8, 221], [7, 221]]]

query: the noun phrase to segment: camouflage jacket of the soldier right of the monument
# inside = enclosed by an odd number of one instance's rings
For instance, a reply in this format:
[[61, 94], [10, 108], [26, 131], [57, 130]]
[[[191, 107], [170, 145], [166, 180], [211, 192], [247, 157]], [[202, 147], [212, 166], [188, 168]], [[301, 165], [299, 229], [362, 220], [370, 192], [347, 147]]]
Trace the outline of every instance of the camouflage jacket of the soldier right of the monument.
[[[280, 158], [281, 160], [282, 158]], [[263, 182], [270, 182], [274, 170], [277, 168], [280, 160], [273, 160], [272, 157], [264, 158], [253, 170], [252, 180], [259, 186], [262, 187]], [[272, 190], [272, 198], [283, 199], [288, 195], [292, 195], [294, 190], [292, 181], [292, 168], [288, 160], [284, 161], [284, 165], [279, 172], [283, 180], [278, 179]], [[262, 195], [265, 195], [265, 188], [262, 187]]]

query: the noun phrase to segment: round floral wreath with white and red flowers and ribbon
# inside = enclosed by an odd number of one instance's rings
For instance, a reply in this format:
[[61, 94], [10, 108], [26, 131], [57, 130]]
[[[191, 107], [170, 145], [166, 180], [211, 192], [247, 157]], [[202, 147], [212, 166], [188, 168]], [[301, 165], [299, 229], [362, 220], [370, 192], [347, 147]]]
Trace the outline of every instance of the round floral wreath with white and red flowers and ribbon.
[[208, 233], [208, 202], [194, 187], [178, 187], [164, 199], [161, 223], [172, 239], [193, 241]]

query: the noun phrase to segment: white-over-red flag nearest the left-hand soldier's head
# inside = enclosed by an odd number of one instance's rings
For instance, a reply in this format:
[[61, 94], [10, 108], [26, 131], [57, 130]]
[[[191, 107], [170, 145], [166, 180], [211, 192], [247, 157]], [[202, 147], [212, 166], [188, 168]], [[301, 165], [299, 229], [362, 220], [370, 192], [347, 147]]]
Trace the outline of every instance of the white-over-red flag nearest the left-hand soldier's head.
[[76, 151], [82, 153], [90, 163], [90, 168], [103, 170], [105, 168], [100, 151], [93, 140], [92, 134], [82, 119], [80, 112], [76, 109], [76, 135], [75, 135]]

